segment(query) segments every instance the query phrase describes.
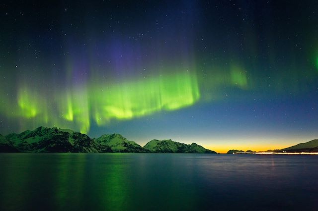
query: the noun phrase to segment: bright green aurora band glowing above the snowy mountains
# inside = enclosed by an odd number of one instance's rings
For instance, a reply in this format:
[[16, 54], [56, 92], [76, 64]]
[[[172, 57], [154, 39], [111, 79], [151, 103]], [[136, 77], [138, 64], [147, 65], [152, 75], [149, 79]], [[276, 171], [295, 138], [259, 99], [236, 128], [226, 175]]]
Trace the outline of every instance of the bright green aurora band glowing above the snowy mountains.
[[200, 98], [196, 74], [186, 70], [121, 83], [92, 83], [52, 94], [41, 94], [30, 86], [19, 87], [17, 106], [2, 106], [1, 112], [41, 125], [66, 127], [73, 123], [87, 133], [92, 120], [98, 126], [106, 125], [112, 119], [190, 106]]

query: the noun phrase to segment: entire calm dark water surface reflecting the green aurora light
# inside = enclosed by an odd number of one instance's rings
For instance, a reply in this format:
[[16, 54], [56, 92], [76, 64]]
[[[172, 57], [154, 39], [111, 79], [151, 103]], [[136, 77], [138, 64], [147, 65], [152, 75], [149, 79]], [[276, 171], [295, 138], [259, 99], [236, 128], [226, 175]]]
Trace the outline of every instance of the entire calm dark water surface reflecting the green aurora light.
[[318, 210], [318, 156], [0, 154], [0, 210]]

